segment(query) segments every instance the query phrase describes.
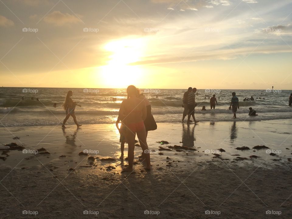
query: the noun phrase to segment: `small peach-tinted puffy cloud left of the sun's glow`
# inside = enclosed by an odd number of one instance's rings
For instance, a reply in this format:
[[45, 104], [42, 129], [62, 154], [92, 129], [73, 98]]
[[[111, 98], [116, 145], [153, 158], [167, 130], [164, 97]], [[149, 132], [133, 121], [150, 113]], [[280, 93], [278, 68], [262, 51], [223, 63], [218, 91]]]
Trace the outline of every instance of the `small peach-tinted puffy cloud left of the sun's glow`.
[[80, 23], [81, 20], [71, 14], [63, 14], [60, 11], [54, 11], [43, 19], [46, 23], [62, 26], [64, 24]]

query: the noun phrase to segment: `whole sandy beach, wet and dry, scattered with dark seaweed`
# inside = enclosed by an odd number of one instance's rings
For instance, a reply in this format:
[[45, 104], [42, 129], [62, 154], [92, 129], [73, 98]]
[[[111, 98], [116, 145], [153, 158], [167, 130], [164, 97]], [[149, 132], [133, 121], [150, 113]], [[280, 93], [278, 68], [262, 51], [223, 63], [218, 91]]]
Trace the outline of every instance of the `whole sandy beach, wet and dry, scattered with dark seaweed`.
[[[137, 160], [137, 146], [131, 173], [121, 172], [127, 160], [119, 159], [115, 124], [2, 127], [1, 143], [28, 153], [0, 151], [6, 158], [0, 212], [2, 218], [291, 218], [291, 125], [158, 123], [147, 139], [152, 170]], [[252, 149], [257, 145], [268, 148]], [[236, 149], [244, 146], [249, 150]], [[89, 155], [79, 155], [85, 150]]]

